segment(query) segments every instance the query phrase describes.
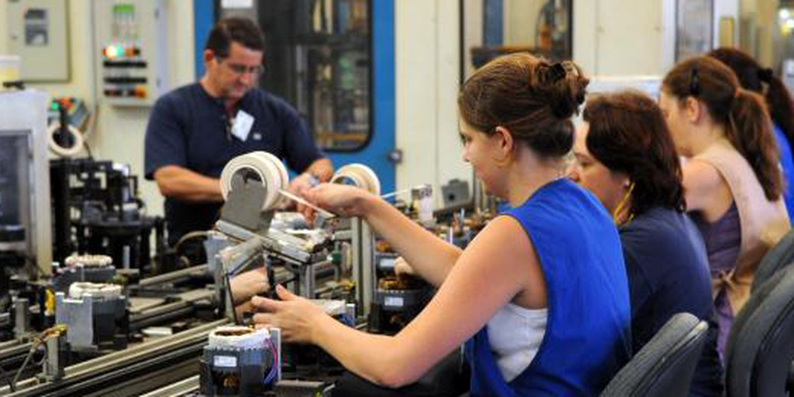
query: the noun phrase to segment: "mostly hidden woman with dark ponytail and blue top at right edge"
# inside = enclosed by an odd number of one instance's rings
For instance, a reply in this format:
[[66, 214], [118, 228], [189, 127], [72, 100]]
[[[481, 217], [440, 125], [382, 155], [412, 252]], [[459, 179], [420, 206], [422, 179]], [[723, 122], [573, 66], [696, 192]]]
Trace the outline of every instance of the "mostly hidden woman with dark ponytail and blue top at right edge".
[[[785, 186], [783, 197], [788, 214], [794, 212], [794, 160], [792, 160], [792, 142], [794, 142], [794, 103], [788, 94], [788, 88], [778, 79], [772, 69], [761, 67], [753, 57], [736, 48], [717, 48], [708, 56], [726, 64], [734, 71], [742, 88], [764, 95], [769, 115], [772, 116], [773, 131], [777, 150], [781, 156], [781, 167]], [[791, 216], [789, 215], [789, 218]]]

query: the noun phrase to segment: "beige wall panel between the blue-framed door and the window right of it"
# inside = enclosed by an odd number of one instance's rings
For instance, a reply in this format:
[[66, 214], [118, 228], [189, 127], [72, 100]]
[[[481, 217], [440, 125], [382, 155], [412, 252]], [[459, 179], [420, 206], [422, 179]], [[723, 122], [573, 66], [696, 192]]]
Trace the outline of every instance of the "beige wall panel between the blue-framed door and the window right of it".
[[395, 142], [404, 153], [396, 187], [431, 183], [436, 206], [442, 184], [472, 179], [457, 134], [458, 13], [449, 0], [395, 2]]

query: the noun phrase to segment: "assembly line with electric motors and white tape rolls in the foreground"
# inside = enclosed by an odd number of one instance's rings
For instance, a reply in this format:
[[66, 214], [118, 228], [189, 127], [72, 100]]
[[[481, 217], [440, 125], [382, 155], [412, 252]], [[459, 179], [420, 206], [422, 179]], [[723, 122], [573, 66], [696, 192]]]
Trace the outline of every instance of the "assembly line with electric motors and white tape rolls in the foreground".
[[[245, 310], [234, 306], [237, 277], [266, 272], [340, 322], [383, 333], [410, 322], [432, 296], [418, 280], [395, 279], [395, 254], [363, 220], [320, 210], [318, 227], [308, 228], [276, 214], [290, 197], [277, 158], [237, 157], [221, 179], [226, 202], [207, 232], [208, 264], [136, 279], [104, 246], [99, 252], [111, 255], [67, 256], [52, 279], [25, 284], [28, 295], [17, 286], [6, 320], [17, 332], [0, 342], [0, 368], [10, 374], [0, 394], [329, 395], [349, 377], [344, 368], [316, 346], [245, 326]], [[332, 181], [380, 195], [362, 164], [340, 168]], [[406, 193], [403, 210], [417, 222], [443, 238], [465, 234], [466, 222], [446, 225], [427, 212], [430, 187]]]

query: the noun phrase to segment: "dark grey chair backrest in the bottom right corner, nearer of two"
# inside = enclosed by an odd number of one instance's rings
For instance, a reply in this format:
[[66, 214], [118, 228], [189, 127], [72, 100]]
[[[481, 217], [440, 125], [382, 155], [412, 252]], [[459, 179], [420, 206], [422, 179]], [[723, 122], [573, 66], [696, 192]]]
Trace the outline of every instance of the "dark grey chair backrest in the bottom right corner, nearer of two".
[[754, 295], [761, 293], [761, 303], [731, 329], [725, 368], [729, 397], [788, 395], [794, 358], [794, 266], [773, 276]]

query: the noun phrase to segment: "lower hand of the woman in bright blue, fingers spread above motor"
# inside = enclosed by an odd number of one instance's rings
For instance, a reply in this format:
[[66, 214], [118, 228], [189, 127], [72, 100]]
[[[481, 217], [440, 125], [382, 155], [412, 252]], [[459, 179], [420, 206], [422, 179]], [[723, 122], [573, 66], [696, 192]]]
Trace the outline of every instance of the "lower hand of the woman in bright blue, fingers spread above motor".
[[260, 313], [254, 314], [256, 328], [279, 328], [284, 341], [314, 343], [313, 330], [326, 316], [320, 306], [303, 299], [281, 285], [276, 286], [281, 300], [254, 296], [251, 303]]

